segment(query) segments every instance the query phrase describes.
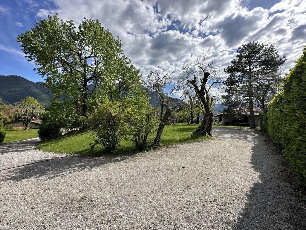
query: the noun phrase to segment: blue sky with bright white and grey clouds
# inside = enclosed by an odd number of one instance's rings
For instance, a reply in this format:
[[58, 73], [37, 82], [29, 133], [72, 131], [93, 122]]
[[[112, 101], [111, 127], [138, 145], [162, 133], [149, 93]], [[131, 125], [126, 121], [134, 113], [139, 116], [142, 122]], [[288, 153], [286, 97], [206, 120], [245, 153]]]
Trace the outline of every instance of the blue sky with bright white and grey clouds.
[[223, 71], [241, 44], [273, 44], [287, 57], [285, 72], [306, 45], [306, 0], [2, 0], [0, 1], [0, 75], [43, 81], [16, 42], [35, 20], [59, 13], [79, 24], [98, 18], [123, 51], [145, 74], [176, 70], [204, 54]]

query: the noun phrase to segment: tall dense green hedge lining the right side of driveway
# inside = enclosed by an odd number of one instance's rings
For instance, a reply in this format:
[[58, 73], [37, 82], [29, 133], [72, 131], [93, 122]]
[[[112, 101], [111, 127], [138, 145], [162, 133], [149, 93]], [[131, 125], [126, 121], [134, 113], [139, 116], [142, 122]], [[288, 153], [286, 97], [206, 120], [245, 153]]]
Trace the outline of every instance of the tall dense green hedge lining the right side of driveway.
[[286, 76], [283, 89], [269, 104], [268, 133], [306, 187], [306, 49]]

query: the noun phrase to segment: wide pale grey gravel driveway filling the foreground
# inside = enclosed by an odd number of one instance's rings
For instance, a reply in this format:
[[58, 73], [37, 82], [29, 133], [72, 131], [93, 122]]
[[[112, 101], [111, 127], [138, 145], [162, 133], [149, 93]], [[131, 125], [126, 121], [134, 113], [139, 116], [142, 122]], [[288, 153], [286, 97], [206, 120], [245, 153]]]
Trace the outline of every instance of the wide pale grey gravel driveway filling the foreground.
[[0, 229], [306, 229], [305, 201], [267, 137], [213, 132], [98, 158], [41, 152], [37, 139], [4, 144]]

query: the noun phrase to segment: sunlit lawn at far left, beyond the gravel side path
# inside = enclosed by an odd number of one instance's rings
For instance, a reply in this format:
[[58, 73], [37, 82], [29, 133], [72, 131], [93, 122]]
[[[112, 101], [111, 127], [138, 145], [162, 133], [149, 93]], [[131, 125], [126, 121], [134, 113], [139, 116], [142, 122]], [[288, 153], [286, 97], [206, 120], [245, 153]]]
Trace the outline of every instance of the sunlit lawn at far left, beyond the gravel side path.
[[19, 141], [19, 140], [27, 140], [31, 139], [34, 137], [38, 137], [37, 135], [38, 129], [28, 129], [28, 130], [23, 130], [23, 129], [10, 129], [6, 130], [6, 135], [4, 138], [4, 143], [9, 143], [9, 142], [14, 142], [14, 141]]

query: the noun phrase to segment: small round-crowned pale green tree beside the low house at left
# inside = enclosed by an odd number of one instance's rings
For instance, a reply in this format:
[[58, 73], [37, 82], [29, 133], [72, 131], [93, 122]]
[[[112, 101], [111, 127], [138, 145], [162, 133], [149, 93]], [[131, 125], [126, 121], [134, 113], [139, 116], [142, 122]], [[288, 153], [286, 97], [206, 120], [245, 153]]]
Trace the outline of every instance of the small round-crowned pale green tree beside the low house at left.
[[38, 117], [43, 109], [43, 106], [32, 97], [27, 97], [20, 102], [16, 102], [15, 107], [18, 117], [20, 117], [25, 124], [25, 129], [29, 128], [29, 124], [32, 122], [33, 118]]

